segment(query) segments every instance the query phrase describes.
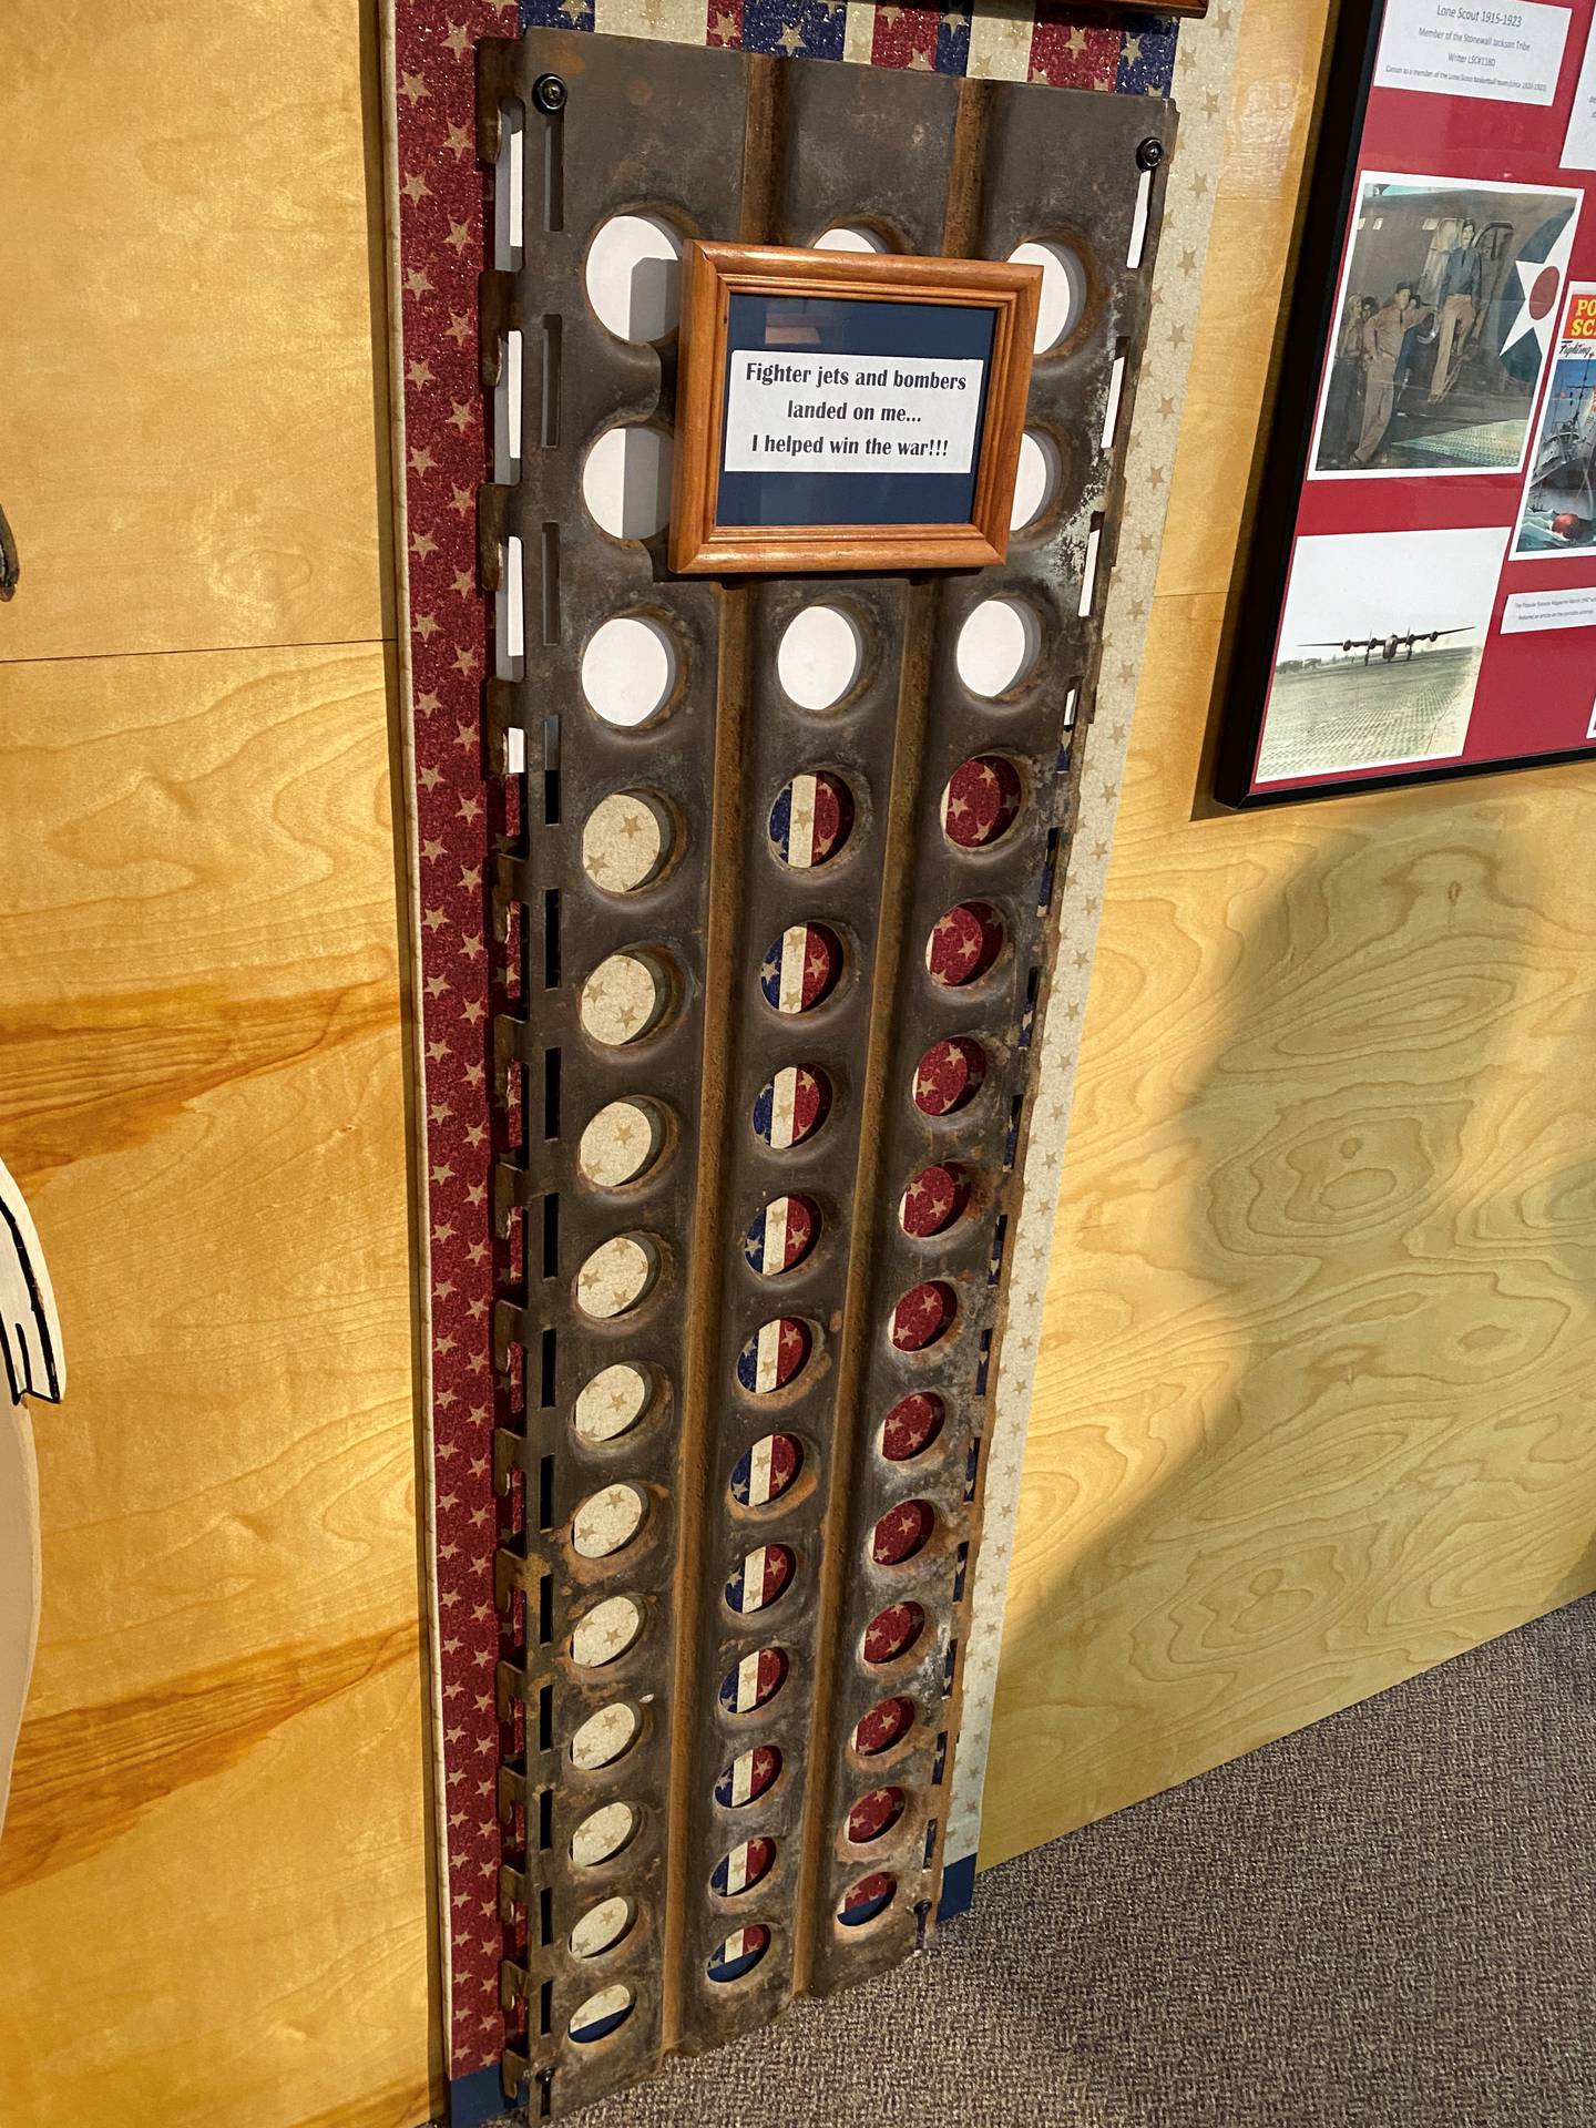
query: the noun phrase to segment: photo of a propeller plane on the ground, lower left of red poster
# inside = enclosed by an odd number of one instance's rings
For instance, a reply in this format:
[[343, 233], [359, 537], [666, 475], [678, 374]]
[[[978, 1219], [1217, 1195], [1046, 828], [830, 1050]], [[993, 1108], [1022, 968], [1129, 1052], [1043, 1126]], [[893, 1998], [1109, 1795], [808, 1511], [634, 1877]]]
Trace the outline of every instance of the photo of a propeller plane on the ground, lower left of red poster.
[[1334, 532], [1292, 553], [1258, 781], [1462, 753], [1507, 532]]

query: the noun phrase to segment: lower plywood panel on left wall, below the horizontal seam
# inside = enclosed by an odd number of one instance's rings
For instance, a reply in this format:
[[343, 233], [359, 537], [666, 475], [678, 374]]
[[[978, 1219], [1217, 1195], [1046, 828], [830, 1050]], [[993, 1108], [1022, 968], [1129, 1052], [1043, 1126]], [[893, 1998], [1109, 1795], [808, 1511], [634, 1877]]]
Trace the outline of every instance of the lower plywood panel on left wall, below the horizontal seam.
[[6, 2128], [428, 2117], [389, 679], [0, 664], [0, 1141], [70, 1353]]

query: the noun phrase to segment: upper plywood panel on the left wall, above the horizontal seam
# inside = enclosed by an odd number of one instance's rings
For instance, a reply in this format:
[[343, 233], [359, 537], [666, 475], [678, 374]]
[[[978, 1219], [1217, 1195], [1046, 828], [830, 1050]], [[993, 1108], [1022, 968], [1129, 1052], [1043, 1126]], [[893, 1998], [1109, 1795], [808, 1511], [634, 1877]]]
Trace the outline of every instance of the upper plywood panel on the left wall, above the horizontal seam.
[[392, 632], [372, 13], [9, 0], [0, 658]]

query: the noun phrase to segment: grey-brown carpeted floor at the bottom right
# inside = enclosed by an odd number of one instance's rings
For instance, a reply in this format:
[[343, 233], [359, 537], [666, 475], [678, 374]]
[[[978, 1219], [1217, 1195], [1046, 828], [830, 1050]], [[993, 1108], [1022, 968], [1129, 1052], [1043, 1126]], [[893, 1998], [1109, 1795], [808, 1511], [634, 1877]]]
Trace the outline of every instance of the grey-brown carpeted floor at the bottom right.
[[1596, 1598], [977, 1879], [581, 2128], [1592, 2128]]

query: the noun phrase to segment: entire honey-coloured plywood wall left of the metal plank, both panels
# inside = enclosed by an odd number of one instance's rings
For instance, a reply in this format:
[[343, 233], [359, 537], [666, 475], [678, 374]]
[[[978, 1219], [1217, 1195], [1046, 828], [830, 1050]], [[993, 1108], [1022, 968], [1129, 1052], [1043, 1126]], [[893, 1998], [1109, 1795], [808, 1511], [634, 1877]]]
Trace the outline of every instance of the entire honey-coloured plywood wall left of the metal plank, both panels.
[[370, 21], [13, 0], [0, 43], [0, 1145], [70, 1353], [0, 2119], [415, 2128]]

